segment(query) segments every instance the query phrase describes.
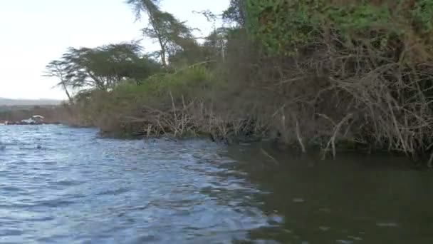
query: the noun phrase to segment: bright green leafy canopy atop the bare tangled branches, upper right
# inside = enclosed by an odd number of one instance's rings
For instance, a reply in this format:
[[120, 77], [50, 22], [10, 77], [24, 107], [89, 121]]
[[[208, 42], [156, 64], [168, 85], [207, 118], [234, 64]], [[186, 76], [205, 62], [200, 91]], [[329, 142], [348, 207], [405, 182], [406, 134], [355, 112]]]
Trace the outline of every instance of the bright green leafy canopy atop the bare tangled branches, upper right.
[[342, 41], [382, 33], [380, 38], [386, 42], [390, 36], [405, 34], [412, 24], [422, 33], [431, 33], [433, 1], [416, 1], [409, 15], [402, 5], [405, 2], [248, 0], [247, 27], [268, 51], [279, 54], [296, 54], [299, 48], [323, 38], [326, 29], [337, 33]]

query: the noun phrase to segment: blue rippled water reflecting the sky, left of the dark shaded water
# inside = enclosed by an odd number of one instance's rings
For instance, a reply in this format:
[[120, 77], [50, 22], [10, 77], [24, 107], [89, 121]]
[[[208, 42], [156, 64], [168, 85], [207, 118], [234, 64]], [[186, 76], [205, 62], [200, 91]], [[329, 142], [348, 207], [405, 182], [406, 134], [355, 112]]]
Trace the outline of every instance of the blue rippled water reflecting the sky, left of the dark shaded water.
[[283, 222], [254, 206], [261, 191], [213, 143], [0, 130], [1, 243], [231, 243]]

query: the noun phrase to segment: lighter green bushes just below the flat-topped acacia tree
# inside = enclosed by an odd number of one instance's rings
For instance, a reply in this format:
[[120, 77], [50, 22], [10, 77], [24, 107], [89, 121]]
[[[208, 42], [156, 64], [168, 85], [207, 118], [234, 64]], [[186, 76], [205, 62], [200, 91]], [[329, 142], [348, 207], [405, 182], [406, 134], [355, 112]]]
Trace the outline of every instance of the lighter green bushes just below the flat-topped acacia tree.
[[84, 117], [98, 124], [106, 116], [111, 120], [140, 116], [143, 106], [165, 111], [172, 106], [171, 97], [178, 103], [205, 97], [214, 86], [213, 80], [212, 73], [197, 66], [177, 73], [156, 73], [140, 85], [122, 81], [111, 91], [83, 91], [75, 99]]

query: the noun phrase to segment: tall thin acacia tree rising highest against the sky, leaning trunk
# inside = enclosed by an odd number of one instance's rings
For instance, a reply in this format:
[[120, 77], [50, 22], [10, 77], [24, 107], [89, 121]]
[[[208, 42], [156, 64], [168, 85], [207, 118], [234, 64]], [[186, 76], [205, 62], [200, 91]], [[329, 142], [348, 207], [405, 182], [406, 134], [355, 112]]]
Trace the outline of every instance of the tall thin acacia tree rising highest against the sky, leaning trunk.
[[159, 3], [158, 0], [127, 0], [137, 20], [141, 19], [142, 14], [147, 15], [149, 26], [143, 28], [142, 32], [160, 44], [159, 56], [162, 66], [167, 67], [170, 56], [197, 44], [192, 36], [192, 29], [172, 14], [162, 11]]

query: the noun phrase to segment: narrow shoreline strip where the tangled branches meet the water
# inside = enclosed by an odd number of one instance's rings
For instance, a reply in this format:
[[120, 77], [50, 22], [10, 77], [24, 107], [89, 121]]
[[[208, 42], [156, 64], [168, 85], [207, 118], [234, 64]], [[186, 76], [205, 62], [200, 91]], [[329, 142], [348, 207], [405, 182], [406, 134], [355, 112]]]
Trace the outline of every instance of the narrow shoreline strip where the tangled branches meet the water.
[[[335, 143], [336, 155], [333, 156], [333, 151], [328, 148], [325, 149], [319, 144], [308, 143], [305, 148], [301, 148], [296, 143], [286, 143], [281, 141], [278, 136], [226, 136], [224, 138], [216, 137], [212, 133], [194, 133], [189, 135], [174, 135], [174, 133], [165, 133], [160, 135], [146, 135], [146, 133], [137, 133], [137, 131], [126, 132], [126, 131], [103, 131], [98, 126], [77, 126], [68, 123], [60, 122], [48, 122], [48, 123], [12, 123], [8, 126], [43, 126], [43, 125], [65, 125], [71, 128], [95, 128], [98, 130], [98, 134], [101, 138], [113, 138], [120, 140], [169, 140], [169, 141], [187, 141], [187, 140], [205, 140], [212, 143], [224, 145], [224, 146], [251, 146], [261, 145], [261, 151], [269, 160], [278, 162], [273, 157], [273, 153], [268, 150], [276, 151], [278, 154], [281, 153], [297, 153], [299, 156], [315, 156], [318, 157], [318, 161], [333, 161], [338, 159], [340, 156], [345, 155], [358, 155], [358, 156], [386, 156], [389, 158], [401, 158], [407, 159], [408, 163], [405, 164], [405, 168], [412, 170], [427, 171], [431, 170], [432, 166], [429, 166], [428, 158], [425, 156], [419, 156], [417, 158], [411, 158], [406, 156], [404, 153], [398, 151], [384, 151], [384, 150], [372, 150], [371, 148], [362, 148], [360, 145], [355, 145], [350, 140], [340, 140]], [[6, 126], [6, 125], [5, 125]], [[266, 151], [262, 148], [266, 147]], [[409, 163], [410, 162], [410, 163]], [[278, 162], [278, 164], [281, 164]]]

